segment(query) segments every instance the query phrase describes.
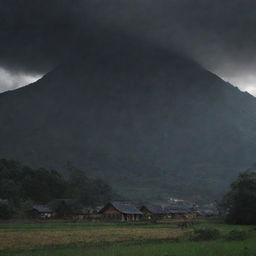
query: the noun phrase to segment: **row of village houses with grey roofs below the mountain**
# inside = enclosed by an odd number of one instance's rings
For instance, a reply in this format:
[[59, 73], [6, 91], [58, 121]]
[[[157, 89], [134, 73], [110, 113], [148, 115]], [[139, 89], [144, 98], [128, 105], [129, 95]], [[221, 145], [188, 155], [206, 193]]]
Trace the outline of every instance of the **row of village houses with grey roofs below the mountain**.
[[[35, 205], [30, 211], [31, 216], [42, 219], [72, 218], [77, 220], [102, 221], [140, 221], [156, 219], [193, 219], [202, 216], [197, 207], [178, 205], [144, 204], [137, 206], [129, 201], [113, 201], [105, 206], [83, 207], [73, 199], [58, 199], [47, 205]], [[215, 215], [212, 212], [210, 215]]]

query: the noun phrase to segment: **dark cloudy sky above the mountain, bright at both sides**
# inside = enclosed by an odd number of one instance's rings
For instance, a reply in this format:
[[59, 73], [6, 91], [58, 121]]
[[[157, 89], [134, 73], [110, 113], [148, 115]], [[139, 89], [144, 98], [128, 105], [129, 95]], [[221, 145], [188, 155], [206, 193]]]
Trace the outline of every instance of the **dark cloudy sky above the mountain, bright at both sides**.
[[0, 0], [0, 92], [115, 31], [177, 48], [256, 95], [255, 10], [255, 0]]

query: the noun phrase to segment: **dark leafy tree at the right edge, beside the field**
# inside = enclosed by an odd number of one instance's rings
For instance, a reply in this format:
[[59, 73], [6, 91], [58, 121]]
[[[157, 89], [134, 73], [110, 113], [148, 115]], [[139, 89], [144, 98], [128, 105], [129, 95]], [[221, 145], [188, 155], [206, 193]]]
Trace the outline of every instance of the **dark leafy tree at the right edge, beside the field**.
[[223, 199], [226, 221], [232, 224], [256, 224], [256, 166], [239, 175]]

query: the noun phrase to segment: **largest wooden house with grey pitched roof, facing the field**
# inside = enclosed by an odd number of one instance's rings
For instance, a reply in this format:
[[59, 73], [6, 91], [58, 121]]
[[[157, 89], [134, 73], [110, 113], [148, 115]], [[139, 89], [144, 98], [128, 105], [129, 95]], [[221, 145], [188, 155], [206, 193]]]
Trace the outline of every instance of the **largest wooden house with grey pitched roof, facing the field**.
[[138, 221], [142, 212], [131, 202], [115, 201], [106, 204], [100, 211], [105, 220]]

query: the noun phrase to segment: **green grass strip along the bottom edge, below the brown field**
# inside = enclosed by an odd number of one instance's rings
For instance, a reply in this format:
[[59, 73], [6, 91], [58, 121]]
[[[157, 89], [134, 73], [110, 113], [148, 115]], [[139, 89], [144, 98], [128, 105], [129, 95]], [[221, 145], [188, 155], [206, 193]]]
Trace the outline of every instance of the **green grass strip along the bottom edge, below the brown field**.
[[112, 245], [69, 245], [23, 251], [0, 252], [1, 256], [255, 256], [255, 237], [247, 241], [227, 242], [141, 242]]

